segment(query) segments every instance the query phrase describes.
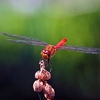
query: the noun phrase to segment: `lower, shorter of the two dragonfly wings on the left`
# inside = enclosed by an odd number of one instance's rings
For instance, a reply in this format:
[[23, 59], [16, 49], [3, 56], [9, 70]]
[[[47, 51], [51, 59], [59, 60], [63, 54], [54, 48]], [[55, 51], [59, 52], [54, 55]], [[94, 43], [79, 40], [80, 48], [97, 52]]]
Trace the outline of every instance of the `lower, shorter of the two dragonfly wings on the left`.
[[29, 45], [37, 45], [37, 46], [46, 46], [46, 45], [48, 45], [48, 44], [44, 44], [42, 42], [37, 42], [37, 41], [13, 40], [13, 39], [8, 39], [8, 41], [16, 42], [16, 43], [29, 44]]

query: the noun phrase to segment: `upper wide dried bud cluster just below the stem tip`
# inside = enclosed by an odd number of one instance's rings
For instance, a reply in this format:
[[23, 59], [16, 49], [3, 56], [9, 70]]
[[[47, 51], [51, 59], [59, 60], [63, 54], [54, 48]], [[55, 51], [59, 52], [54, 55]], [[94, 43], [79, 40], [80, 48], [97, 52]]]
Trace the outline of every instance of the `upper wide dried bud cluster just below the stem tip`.
[[41, 68], [40, 71], [35, 73], [35, 78], [45, 81], [51, 78], [51, 74], [47, 70]]

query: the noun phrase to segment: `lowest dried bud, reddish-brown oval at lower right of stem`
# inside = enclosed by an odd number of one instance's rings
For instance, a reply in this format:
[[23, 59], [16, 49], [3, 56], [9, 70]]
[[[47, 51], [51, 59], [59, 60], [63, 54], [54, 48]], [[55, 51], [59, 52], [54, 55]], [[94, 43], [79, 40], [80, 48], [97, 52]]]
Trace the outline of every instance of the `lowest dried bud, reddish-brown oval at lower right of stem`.
[[44, 96], [47, 100], [51, 100], [54, 98], [55, 96], [55, 91], [54, 89], [52, 88], [51, 85], [49, 85], [48, 83], [45, 84], [44, 88], [43, 88], [43, 91], [44, 91]]

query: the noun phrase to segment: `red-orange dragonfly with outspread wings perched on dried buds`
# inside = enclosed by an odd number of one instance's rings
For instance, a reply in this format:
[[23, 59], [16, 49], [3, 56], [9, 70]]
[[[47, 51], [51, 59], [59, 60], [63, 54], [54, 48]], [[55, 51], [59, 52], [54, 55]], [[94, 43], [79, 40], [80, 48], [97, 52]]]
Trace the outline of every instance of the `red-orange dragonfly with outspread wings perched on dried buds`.
[[99, 48], [89, 48], [81, 46], [67, 46], [64, 45], [67, 42], [67, 39], [62, 39], [57, 45], [50, 45], [46, 42], [40, 41], [36, 38], [30, 38], [26, 36], [18, 36], [15, 34], [0, 33], [8, 37], [13, 37], [16, 39], [8, 39], [10, 42], [23, 43], [36, 46], [44, 46], [45, 48], [41, 51], [42, 58], [50, 62], [50, 58], [54, 56], [57, 50], [72, 50], [77, 52], [89, 53], [89, 54], [100, 54]]

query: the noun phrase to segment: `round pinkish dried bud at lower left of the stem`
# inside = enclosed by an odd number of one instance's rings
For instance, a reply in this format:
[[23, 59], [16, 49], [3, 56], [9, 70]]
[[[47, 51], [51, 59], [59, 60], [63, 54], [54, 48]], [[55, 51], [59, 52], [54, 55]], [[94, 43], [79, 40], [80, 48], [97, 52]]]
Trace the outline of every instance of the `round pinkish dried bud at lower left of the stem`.
[[36, 92], [41, 92], [42, 89], [43, 89], [43, 82], [40, 81], [40, 80], [36, 80], [36, 81], [33, 83], [33, 89], [34, 89], [34, 91], [36, 91]]

